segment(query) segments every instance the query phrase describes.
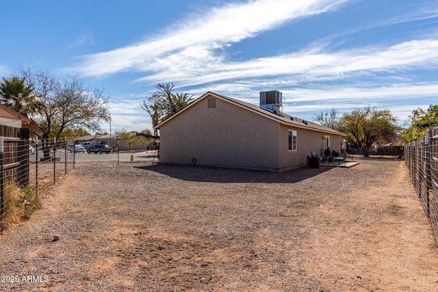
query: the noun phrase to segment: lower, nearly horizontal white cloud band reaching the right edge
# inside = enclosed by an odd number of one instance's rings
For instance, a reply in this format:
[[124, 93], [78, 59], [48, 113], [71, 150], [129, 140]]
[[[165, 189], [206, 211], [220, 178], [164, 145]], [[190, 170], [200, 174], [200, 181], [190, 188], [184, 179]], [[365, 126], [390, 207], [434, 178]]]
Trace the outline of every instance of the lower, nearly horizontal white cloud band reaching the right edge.
[[309, 48], [243, 62], [227, 62], [208, 51], [194, 55], [196, 57], [177, 54], [159, 59], [151, 64], [159, 68], [159, 72], [138, 81], [172, 80], [188, 86], [227, 79], [281, 77], [298, 83], [321, 78], [346, 79], [352, 73], [367, 75], [389, 70], [427, 69], [438, 64], [438, 40], [412, 40], [387, 48], [367, 47], [335, 53], [326, 53], [324, 48]]

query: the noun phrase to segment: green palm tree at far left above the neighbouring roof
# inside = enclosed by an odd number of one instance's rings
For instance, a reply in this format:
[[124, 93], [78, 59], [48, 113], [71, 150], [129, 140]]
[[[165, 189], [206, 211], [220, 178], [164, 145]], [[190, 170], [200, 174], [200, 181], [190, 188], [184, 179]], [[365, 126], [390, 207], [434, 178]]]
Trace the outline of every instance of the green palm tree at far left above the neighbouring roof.
[[0, 102], [19, 114], [29, 118], [44, 108], [44, 104], [37, 101], [33, 83], [26, 83], [26, 77], [1, 77]]

